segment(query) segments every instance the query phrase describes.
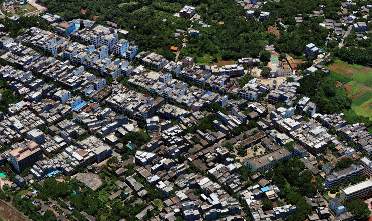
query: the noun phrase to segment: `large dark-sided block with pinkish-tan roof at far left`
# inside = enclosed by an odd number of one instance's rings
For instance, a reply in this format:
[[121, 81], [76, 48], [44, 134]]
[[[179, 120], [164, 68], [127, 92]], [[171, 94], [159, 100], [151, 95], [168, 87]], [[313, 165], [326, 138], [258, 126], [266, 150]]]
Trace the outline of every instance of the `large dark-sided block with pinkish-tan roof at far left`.
[[9, 162], [18, 172], [32, 166], [42, 158], [42, 150], [34, 141], [29, 141], [9, 152]]

